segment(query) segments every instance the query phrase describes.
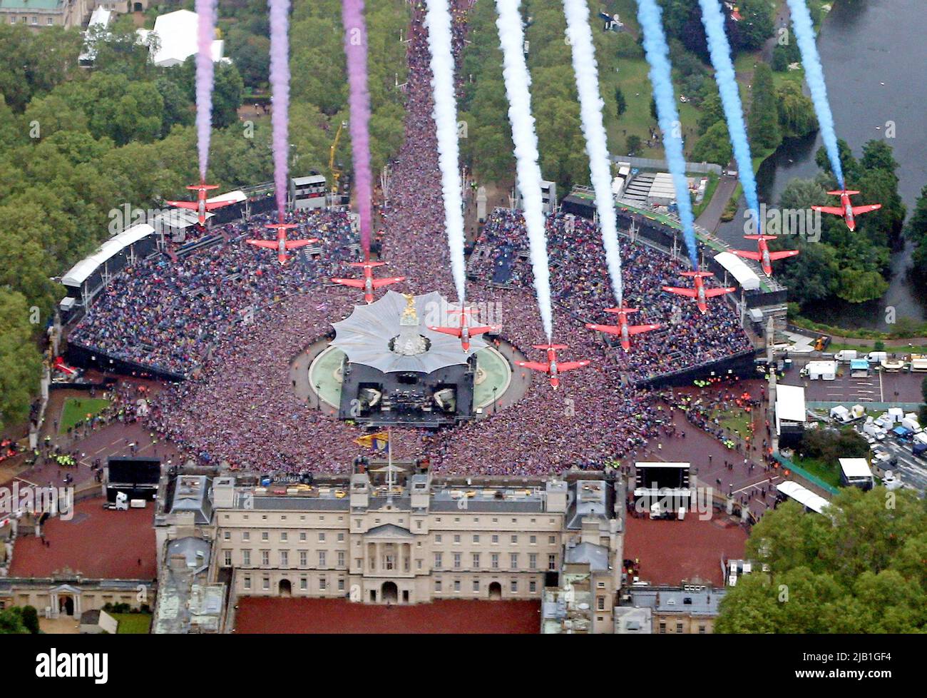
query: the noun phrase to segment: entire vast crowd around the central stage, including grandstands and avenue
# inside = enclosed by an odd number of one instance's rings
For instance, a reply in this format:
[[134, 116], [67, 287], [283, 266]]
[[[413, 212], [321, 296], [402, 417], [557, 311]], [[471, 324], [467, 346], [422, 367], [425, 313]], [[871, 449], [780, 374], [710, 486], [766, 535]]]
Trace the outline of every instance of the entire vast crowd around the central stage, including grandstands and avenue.
[[[458, 54], [470, 5], [469, 0], [452, 3]], [[408, 48], [406, 137], [391, 163], [387, 202], [379, 211], [381, 242], [389, 273], [408, 277], [399, 291], [440, 291], [453, 301], [423, 17], [423, 8], [416, 6]], [[358, 302], [354, 290], [316, 283], [339, 273], [337, 267], [349, 260], [355, 238], [346, 214], [305, 215], [300, 237], [324, 239], [321, 259], [280, 267], [273, 253], [241, 241], [254, 236], [263, 221], [226, 226], [216, 247], [175, 263], [161, 256], [136, 264], [116, 279], [72, 335], [188, 377], [159, 394], [146, 417], [149, 427], [186, 457], [232, 468], [337, 472], [349, 469], [362, 450], [355, 443], [361, 429], [325, 414], [294, 390], [293, 359]], [[685, 368], [747, 345], [726, 305], [713, 304], [713, 312], [702, 317], [683, 299], [659, 291], [664, 283], [681, 284], [676, 262], [624, 242], [626, 302], [641, 308], [634, 320], [667, 322], [674, 305], [682, 306], [680, 319], [659, 341], [637, 339], [629, 354], [603, 343], [583, 327], [584, 321], [614, 321], [602, 312], [615, 300], [601, 239], [580, 219], [554, 215], [547, 225], [555, 340], [569, 346], [562, 360], [586, 358], [590, 366], [565, 374], [556, 393], [546, 376], [534, 374], [523, 398], [485, 419], [437, 431], [393, 430], [394, 458], [427, 456], [436, 472], [524, 475], [627, 463], [666, 430], [654, 395], [635, 388], [629, 378]], [[528, 358], [540, 359], [531, 345], [546, 338], [530, 290], [530, 267], [519, 260], [525, 239], [520, 214], [493, 214], [480, 240], [489, 254], [471, 266], [477, 280], [468, 285], [467, 300], [497, 307], [504, 339]], [[502, 245], [514, 256], [510, 288], [489, 283], [497, 261], [493, 252]], [[247, 308], [256, 311], [253, 322], [240, 321]]]

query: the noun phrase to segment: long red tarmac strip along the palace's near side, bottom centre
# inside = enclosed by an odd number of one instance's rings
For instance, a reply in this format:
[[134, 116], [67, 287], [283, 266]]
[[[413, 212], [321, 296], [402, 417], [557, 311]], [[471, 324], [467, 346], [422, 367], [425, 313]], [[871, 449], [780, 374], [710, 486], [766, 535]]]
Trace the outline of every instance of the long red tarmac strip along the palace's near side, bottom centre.
[[540, 631], [539, 601], [449, 600], [391, 606], [346, 599], [243, 597], [236, 633], [520, 633]]

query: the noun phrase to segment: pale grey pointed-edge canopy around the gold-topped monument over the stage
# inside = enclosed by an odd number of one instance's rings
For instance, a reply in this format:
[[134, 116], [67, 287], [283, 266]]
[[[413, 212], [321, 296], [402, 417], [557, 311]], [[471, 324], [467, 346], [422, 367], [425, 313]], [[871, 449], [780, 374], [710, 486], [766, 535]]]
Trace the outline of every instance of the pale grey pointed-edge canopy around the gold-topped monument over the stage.
[[[415, 371], [431, 373], [438, 368], [465, 364], [467, 354], [461, 341], [450, 334], [434, 332], [425, 327], [431, 308], [446, 306], [438, 291], [415, 296], [415, 311], [419, 317], [418, 332], [430, 343], [422, 354], [407, 356], [389, 350], [389, 341], [400, 334], [400, 317], [406, 308], [405, 297], [396, 291], [387, 291], [383, 298], [372, 304], [355, 305], [347, 319], [332, 323], [337, 334], [332, 346], [348, 355], [349, 361], [391, 373]], [[471, 351], [486, 347], [478, 337], [470, 338]]]

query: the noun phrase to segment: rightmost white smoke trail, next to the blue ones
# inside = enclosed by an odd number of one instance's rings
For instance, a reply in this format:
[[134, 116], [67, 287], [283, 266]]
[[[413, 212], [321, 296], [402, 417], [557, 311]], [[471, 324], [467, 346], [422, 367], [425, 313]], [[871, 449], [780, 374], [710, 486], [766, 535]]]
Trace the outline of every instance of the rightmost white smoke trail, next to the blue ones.
[[577, 78], [579, 118], [586, 138], [586, 154], [592, 188], [595, 190], [595, 208], [602, 228], [605, 262], [612, 279], [612, 290], [618, 307], [623, 306], [624, 290], [621, 283], [621, 252], [618, 250], [618, 232], [615, 201], [612, 197], [612, 173], [608, 162], [608, 142], [602, 122], [604, 106], [599, 91], [599, 67], [595, 60], [595, 47], [589, 26], [589, 5], [586, 0], [564, 0], [566, 36], [573, 50], [573, 71]]

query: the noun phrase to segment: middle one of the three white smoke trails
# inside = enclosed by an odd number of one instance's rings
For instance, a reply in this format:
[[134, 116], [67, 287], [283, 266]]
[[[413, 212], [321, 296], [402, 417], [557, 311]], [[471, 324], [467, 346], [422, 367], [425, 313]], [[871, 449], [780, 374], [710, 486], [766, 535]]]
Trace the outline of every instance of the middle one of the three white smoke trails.
[[538, 135], [531, 115], [531, 93], [528, 87], [531, 76], [525, 63], [525, 32], [522, 31], [518, 0], [496, 0], [496, 27], [502, 45], [502, 78], [505, 95], [509, 100], [509, 122], [512, 123], [512, 141], [515, 147], [517, 186], [525, 207], [528, 247], [531, 253], [531, 270], [534, 272], [534, 290], [538, 296], [540, 321], [547, 341], [553, 336], [553, 310], [551, 305], [551, 267], [547, 259], [547, 236], [544, 233], [543, 203], [540, 197], [542, 177], [538, 164]]

